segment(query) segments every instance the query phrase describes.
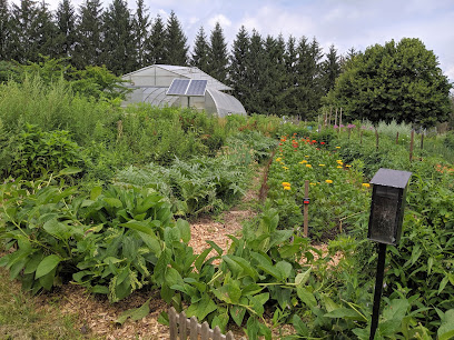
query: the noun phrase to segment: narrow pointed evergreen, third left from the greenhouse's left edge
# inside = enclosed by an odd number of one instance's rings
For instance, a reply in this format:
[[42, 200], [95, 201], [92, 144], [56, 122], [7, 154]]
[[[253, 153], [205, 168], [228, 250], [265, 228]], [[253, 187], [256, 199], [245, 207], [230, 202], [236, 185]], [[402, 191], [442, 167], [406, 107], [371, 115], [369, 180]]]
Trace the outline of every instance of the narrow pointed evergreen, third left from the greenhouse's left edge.
[[56, 23], [58, 36], [56, 52], [60, 58], [72, 57], [76, 44], [76, 20], [77, 14], [70, 0], [62, 0], [57, 8]]

